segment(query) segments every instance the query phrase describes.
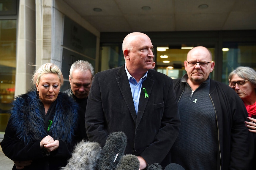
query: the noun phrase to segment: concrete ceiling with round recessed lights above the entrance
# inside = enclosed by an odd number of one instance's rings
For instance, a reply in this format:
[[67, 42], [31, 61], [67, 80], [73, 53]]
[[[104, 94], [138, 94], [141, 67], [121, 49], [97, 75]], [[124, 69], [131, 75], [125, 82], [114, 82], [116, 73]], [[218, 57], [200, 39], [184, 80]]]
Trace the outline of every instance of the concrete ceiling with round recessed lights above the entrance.
[[[99, 32], [256, 29], [256, 0], [64, 1]], [[201, 4], [208, 8], [200, 9]]]

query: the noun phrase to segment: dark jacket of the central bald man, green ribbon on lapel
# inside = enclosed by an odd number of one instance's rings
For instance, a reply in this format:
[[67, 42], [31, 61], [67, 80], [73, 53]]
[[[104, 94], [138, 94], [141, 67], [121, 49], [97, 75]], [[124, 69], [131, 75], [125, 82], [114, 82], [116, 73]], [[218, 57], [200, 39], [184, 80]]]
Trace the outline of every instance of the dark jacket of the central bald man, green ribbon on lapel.
[[173, 80], [149, 70], [143, 88], [148, 98], [141, 90], [136, 115], [124, 65], [97, 73], [87, 101], [86, 132], [91, 142], [104, 146], [109, 133], [122, 131], [127, 136], [125, 153], [165, 167], [180, 127]]

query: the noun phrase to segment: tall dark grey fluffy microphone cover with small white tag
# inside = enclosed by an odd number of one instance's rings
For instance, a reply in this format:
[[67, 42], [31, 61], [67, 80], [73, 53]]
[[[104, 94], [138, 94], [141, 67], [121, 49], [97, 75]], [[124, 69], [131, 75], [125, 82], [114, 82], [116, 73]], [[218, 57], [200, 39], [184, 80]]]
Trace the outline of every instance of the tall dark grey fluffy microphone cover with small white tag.
[[112, 132], [109, 134], [106, 144], [103, 147], [103, 157], [99, 162], [100, 170], [113, 170], [116, 168], [127, 143], [127, 137], [124, 132]]

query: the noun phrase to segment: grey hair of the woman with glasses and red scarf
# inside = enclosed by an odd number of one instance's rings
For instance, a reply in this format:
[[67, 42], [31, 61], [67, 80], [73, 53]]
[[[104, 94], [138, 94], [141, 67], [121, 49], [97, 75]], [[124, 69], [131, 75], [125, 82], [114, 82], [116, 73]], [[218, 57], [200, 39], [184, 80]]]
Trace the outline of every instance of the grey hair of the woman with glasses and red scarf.
[[231, 80], [234, 74], [256, 85], [256, 71], [253, 68], [246, 66], [237, 67], [229, 74], [228, 80]]

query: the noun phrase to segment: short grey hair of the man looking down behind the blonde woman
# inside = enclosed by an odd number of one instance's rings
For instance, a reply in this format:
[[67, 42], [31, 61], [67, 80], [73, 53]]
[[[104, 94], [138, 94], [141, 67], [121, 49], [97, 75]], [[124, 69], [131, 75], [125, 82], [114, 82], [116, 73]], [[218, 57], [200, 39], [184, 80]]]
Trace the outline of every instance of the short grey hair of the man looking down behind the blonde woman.
[[88, 61], [84, 61], [84, 60], [75, 61], [71, 65], [70, 70], [69, 70], [69, 75], [70, 75], [71, 78], [73, 78], [72, 73], [75, 70], [79, 70], [81, 72], [86, 72], [87, 70], [90, 70], [92, 77], [94, 75], [94, 68], [91, 65], [91, 63], [89, 63]]

